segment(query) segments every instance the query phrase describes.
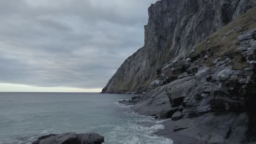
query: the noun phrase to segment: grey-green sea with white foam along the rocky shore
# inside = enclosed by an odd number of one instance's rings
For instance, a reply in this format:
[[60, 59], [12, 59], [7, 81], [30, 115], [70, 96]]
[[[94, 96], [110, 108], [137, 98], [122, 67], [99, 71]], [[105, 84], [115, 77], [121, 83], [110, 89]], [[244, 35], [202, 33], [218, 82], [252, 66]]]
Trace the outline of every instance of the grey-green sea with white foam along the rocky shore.
[[117, 103], [129, 94], [0, 93], [0, 144], [31, 144], [37, 137], [94, 132], [105, 144], [172, 143], [154, 135], [164, 125]]

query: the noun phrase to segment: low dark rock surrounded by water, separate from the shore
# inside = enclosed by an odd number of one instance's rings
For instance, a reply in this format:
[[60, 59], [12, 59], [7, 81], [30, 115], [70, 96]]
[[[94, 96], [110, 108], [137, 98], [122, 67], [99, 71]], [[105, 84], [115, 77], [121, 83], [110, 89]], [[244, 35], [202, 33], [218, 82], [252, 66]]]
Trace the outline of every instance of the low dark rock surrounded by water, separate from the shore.
[[95, 133], [63, 133], [41, 136], [32, 144], [101, 144], [104, 137]]

